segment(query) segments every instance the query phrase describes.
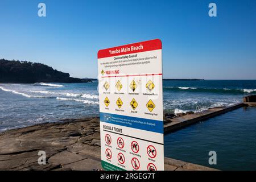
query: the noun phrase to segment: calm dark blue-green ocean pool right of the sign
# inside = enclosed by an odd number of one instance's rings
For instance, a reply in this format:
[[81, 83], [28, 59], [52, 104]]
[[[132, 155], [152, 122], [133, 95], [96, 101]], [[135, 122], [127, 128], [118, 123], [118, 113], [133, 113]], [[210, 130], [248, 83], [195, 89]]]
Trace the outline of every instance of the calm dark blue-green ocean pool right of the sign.
[[[209, 165], [209, 151], [217, 164]], [[241, 107], [164, 136], [164, 155], [222, 170], [256, 169], [256, 107]]]

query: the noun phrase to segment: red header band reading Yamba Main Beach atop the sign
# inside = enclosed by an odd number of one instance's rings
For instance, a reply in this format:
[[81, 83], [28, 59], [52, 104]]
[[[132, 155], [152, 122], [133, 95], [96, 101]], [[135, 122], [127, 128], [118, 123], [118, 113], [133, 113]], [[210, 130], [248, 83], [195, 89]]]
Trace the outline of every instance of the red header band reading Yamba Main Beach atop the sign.
[[134, 44], [127, 44], [124, 46], [112, 47], [98, 51], [98, 59], [104, 57], [112, 57], [119, 55], [126, 55], [130, 53], [138, 53], [144, 51], [154, 51], [162, 49], [162, 42], [159, 39], [148, 40]]

